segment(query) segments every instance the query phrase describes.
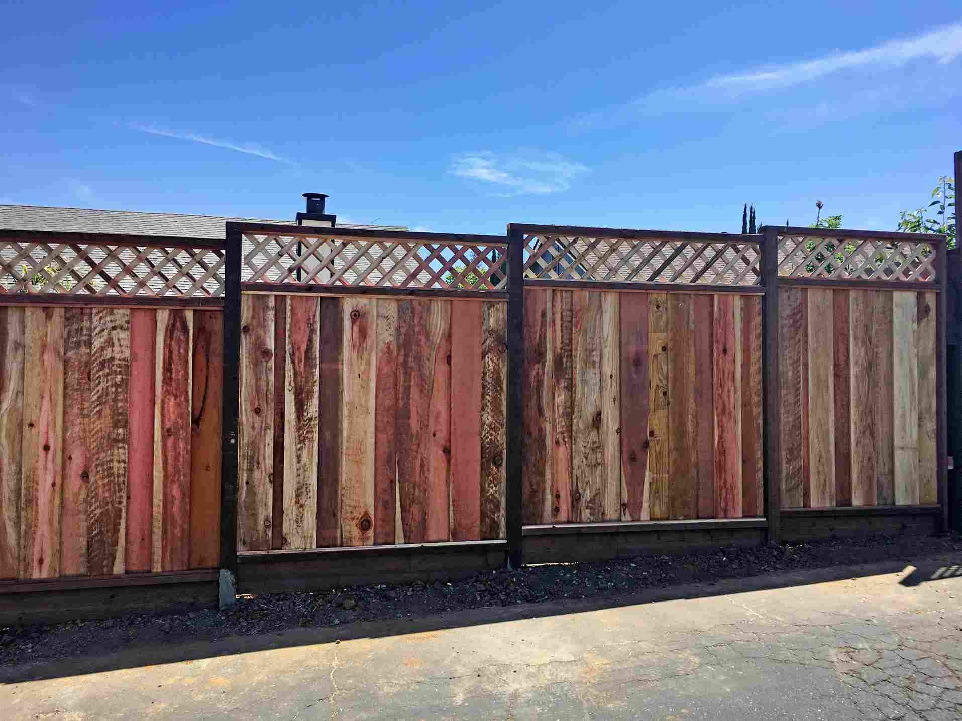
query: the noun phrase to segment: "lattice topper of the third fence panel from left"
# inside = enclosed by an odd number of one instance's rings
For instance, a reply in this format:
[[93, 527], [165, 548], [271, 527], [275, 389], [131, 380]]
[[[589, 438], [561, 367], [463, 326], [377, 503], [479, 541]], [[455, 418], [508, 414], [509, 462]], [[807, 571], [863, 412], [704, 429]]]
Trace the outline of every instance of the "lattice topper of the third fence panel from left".
[[525, 277], [558, 281], [757, 286], [758, 242], [524, 236]]

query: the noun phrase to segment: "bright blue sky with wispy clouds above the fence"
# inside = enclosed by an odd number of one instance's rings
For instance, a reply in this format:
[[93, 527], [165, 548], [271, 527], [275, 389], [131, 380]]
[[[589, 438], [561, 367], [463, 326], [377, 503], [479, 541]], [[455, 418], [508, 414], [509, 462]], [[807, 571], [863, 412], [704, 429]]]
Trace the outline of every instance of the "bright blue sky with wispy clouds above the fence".
[[950, 7], [7, 2], [0, 203], [891, 230], [962, 149]]

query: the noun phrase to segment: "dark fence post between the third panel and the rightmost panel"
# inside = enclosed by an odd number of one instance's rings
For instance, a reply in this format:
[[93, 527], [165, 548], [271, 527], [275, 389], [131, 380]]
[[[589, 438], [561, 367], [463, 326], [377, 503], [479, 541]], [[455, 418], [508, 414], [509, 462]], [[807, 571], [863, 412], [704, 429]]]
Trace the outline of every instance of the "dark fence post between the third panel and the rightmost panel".
[[778, 229], [765, 226], [762, 240], [762, 444], [765, 517], [769, 543], [781, 539], [781, 387], [778, 367]]

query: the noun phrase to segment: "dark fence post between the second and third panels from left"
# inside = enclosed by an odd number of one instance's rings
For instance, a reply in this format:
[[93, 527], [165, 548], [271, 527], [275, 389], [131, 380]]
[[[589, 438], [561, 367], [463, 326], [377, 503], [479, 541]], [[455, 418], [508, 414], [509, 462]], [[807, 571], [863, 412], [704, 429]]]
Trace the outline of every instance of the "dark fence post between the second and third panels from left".
[[524, 234], [508, 225], [508, 468], [505, 479], [505, 530], [508, 567], [521, 567], [521, 448], [524, 357]]

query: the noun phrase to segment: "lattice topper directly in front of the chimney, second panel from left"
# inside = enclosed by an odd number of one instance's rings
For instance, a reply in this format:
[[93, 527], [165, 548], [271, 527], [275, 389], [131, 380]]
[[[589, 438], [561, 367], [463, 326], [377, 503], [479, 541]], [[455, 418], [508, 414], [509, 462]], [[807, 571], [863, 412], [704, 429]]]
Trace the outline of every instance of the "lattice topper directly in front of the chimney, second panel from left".
[[503, 290], [507, 248], [338, 236], [242, 234], [246, 283]]

